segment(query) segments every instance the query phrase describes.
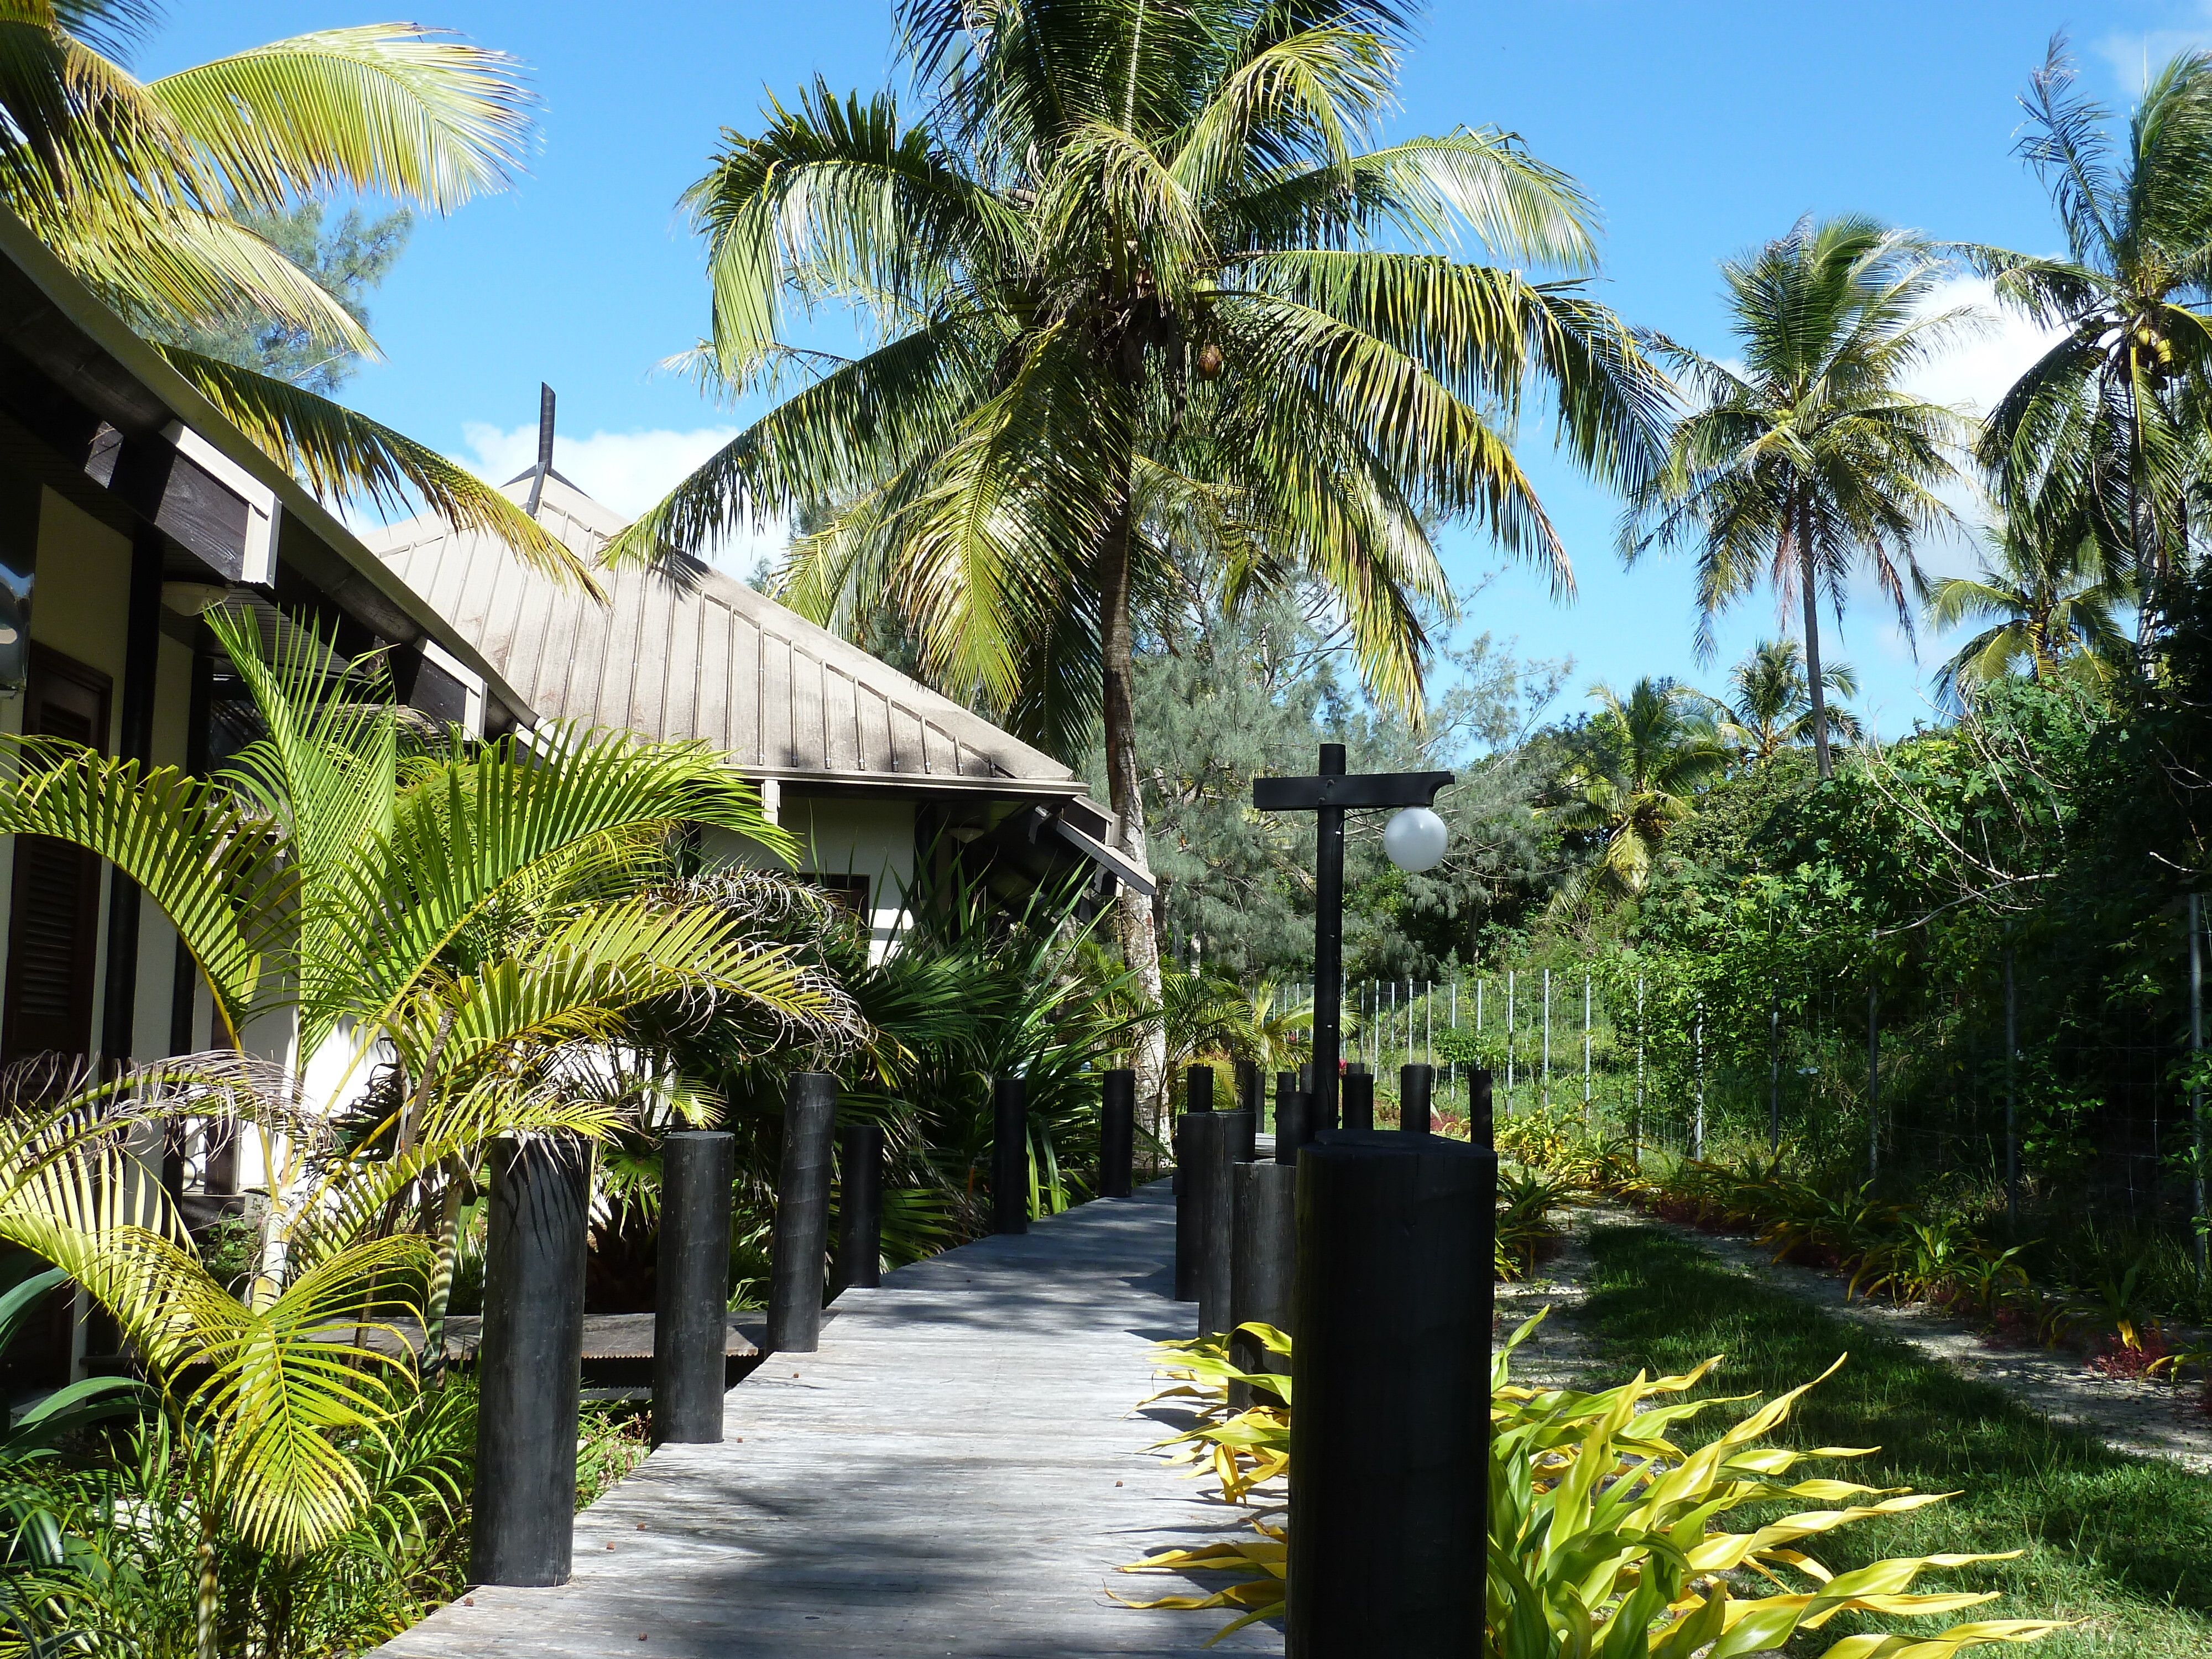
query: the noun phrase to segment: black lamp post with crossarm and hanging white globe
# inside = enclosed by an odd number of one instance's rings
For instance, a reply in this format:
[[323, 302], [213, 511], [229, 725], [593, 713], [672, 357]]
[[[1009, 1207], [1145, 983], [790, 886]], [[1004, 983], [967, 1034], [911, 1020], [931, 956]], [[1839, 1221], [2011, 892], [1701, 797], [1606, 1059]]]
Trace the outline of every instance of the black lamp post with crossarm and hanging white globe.
[[1429, 807], [1451, 772], [1345, 774], [1345, 745], [1323, 743], [1310, 779], [1252, 779], [1261, 812], [1314, 814], [1314, 1119], [1336, 1121], [1336, 1062], [1345, 1013], [1345, 814], [1402, 807], [1383, 832], [1400, 869], [1433, 869], [1449, 832]]

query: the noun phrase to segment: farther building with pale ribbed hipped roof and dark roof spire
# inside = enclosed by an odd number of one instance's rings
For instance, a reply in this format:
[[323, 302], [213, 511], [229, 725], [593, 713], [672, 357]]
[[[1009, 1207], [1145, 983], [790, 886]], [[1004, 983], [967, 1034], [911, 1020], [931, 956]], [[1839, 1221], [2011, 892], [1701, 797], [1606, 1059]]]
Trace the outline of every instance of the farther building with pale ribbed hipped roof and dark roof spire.
[[[509, 495], [597, 562], [626, 520], [553, 471], [551, 392], [538, 453]], [[677, 557], [608, 573], [599, 604], [438, 518], [363, 540], [535, 719], [726, 752], [799, 836], [801, 869], [869, 918], [878, 949], [900, 927], [918, 856], [960, 858], [1009, 896], [1084, 860], [1102, 894], [1152, 891], [1066, 765], [723, 571]]]

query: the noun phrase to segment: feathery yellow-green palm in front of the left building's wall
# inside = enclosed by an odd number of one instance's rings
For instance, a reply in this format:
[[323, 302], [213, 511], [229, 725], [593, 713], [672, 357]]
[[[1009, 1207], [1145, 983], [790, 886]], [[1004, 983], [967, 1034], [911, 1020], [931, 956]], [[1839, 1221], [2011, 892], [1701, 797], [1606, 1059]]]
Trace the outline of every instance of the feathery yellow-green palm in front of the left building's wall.
[[[681, 1013], [832, 1053], [849, 1022], [790, 949], [668, 880], [684, 825], [790, 849], [721, 757], [626, 734], [407, 741], [378, 661], [347, 664], [305, 628], [268, 639], [252, 615], [210, 626], [263, 726], [230, 768], [192, 779], [13, 739], [31, 765], [0, 781], [0, 830], [135, 878], [232, 1046], [0, 1110], [0, 1241], [100, 1301], [179, 1433], [206, 1440], [210, 1535], [296, 1555], [361, 1515], [343, 1442], [411, 1398], [405, 1358], [330, 1338], [400, 1314], [436, 1325], [453, 1199], [491, 1137], [635, 1121], [644, 1091], [608, 1077]], [[270, 1015], [294, 1024], [290, 1064], [237, 1051]], [[243, 1296], [124, 1152], [135, 1126], [175, 1119], [261, 1139], [268, 1214]], [[425, 1212], [440, 1237], [418, 1232]], [[425, 1281], [429, 1307], [400, 1290]]]

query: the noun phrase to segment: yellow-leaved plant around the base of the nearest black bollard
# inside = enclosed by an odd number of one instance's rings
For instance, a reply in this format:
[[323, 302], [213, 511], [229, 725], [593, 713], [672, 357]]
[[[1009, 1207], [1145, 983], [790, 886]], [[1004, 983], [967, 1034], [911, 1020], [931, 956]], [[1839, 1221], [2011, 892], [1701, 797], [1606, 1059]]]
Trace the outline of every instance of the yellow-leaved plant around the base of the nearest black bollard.
[[[1801, 1548], [1851, 1522], [1944, 1500], [1944, 1493], [1796, 1475], [1805, 1462], [1871, 1455], [1867, 1447], [1792, 1451], [1761, 1444], [1807, 1389], [1843, 1365], [1840, 1358], [1823, 1378], [1761, 1405], [1692, 1451], [1672, 1440], [1679, 1422], [1714, 1405], [1754, 1398], [1688, 1398], [1719, 1358], [1683, 1376], [1639, 1371], [1599, 1394], [1517, 1387], [1513, 1352], [1542, 1318], [1524, 1323], [1491, 1363], [1486, 1659], [1743, 1659], [1820, 1630], [1838, 1613], [1929, 1617], [1993, 1599], [1986, 1590], [1916, 1593], [1911, 1586], [1929, 1568], [2006, 1555], [1909, 1555], [1832, 1573]], [[1192, 1363], [1192, 1347], [1177, 1345], [1179, 1376], [1170, 1394], [1201, 1398], [1208, 1420], [1181, 1440], [1234, 1442], [1241, 1418], [1225, 1411], [1225, 1389], [1241, 1374], [1225, 1352]], [[1281, 1418], [1287, 1469], [1287, 1402], [1272, 1416]], [[1801, 1506], [1745, 1531], [1723, 1524], [1743, 1509], [1774, 1504]], [[1237, 1610], [1237, 1619], [1214, 1632], [1219, 1641], [1283, 1613], [1285, 1557], [1285, 1528], [1254, 1522], [1250, 1540], [1161, 1551], [1124, 1571], [1239, 1575], [1212, 1595], [1133, 1604]], [[1820, 1659], [1951, 1659], [1966, 1648], [2035, 1641], [2057, 1628], [2053, 1619], [1984, 1619], [1927, 1635], [1858, 1632], [1829, 1644]]]

